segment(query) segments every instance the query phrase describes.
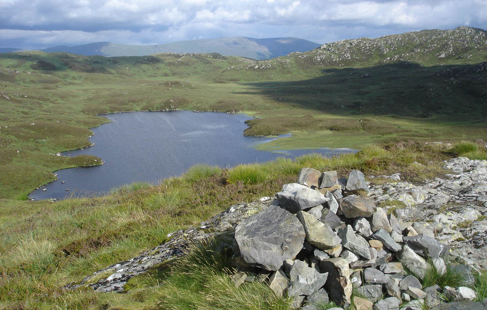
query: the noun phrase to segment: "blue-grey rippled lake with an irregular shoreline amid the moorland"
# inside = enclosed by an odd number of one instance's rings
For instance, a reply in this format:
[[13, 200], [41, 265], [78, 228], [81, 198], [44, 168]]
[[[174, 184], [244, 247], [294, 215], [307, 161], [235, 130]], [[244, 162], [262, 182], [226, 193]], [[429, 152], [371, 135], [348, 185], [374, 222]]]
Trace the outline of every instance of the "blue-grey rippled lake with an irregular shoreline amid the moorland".
[[[92, 131], [95, 145], [84, 150], [64, 152], [63, 156], [91, 154], [105, 161], [102, 166], [59, 170], [58, 180], [37, 190], [33, 199], [93, 196], [124, 184], [159, 180], [183, 174], [198, 164], [232, 167], [278, 157], [297, 157], [305, 153], [333, 154], [351, 149], [320, 148], [269, 152], [253, 148], [269, 138], [244, 137], [243, 114], [216, 112], [128, 112], [105, 115], [113, 122]], [[64, 181], [64, 183], [61, 183]], [[65, 191], [69, 189], [69, 191]]]

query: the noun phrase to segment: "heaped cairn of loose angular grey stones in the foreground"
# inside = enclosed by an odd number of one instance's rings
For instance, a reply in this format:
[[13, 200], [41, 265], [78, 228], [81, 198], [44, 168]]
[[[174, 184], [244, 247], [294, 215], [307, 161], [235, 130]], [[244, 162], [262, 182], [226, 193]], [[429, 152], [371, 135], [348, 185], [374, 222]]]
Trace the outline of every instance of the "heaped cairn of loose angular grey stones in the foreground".
[[354, 297], [358, 309], [434, 307], [439, 294], [475, 299], [467, 287], [422, 289], [430, 268], [446, 271], [449, 246], [387, 214], [369, 192], [360, 171], [338, 179], [336, 171], [303, 168], [297, 183], [236, 226], [237, 270], [268, 274], [272, 291], [303, 309], [328, 301], [347, 307], [353, 289], [364, 297]]

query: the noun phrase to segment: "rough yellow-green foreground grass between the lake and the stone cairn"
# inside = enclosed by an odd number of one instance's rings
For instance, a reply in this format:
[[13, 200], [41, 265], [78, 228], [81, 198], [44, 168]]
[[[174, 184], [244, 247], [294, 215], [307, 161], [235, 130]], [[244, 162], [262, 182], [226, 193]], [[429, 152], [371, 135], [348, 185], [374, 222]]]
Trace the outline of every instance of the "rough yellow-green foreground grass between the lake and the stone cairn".
[[[323, 171], [336, 169], [339, 176], [346, 176], [352, 169], [367, 172], [373, 161], [374, 169], [378, 169], [373, 173], [401, 172], [405, 178], [421, 179], [430, 172], [425, 174], [423, 170], [411, 169], [412, 162], [434, 161], [441, 165], [442, 160], [447, 159], [445, 153], [423, 143], [388, 144], [383, 149], [334, 158], [314, 154], [295, 161], [277, 159], [255, 164], [252, 169], [262, 171], [265, 177], [248, 184], [243, 184], [241, 179], [234, 183], [226, 181], [233, 169], [248, 170], [248, 166], [237, 166], [198, 176], [197, 181], [194, 181], [194, 171], [190, 170], [188, 175], [165, 179], [160, 184], [129, 185], [90, 199], [56, 202], [0, 199], [2, 306], [8, 309], [171, 308], [164, 300], [172, 300], [182, 308], [187, 303], [218, 309], [238, 308], [237, 300], [247, 304], [247, 308], [286, 308], [286, 301], [275, 300], [259, 283], [246, 284], [236, 292], [228, 282], [231, 272], [219, 267], [216, 268], [219, 273], [211, 281], [197, 284], [188, 278], [190, 275], [182, 275], [183, 271], [177, 276], [173, 266], [161, 266], [132, 278], [125, 294], [99, 294], [89, 288], [61, 291], [60, 287], [151, 249], [164, 242], [168, 233], [199, 225], [234, 203], [272, 196], [281, 190], [282, 184], [295, 181], [302, 167]], [[373, 154], [373, 157], [366, 154]], [[179, 286], [180, 291], [177, 290]]]

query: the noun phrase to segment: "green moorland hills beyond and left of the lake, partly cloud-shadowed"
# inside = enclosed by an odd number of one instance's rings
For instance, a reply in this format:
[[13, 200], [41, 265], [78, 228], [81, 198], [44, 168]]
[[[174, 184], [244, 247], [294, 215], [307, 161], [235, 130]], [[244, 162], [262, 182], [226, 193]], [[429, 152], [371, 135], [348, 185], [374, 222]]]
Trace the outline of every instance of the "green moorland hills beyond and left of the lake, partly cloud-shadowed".
[[[89, 128], [106, 121], [93, 115], [117, 111], [242, 111], [257, 117], [246, 135], [293, 133], [259, 145], [266, 149], [487, 140], [485, 38], [468, 27], [424, 30], [261, 61], [217, 53], [4, 53], [0, 197], [25, 198], [53, 180], [52, 171], [95, 163], [49, 154], [89, 145]], [[351, 60], [358, 55], [364, 60]]]

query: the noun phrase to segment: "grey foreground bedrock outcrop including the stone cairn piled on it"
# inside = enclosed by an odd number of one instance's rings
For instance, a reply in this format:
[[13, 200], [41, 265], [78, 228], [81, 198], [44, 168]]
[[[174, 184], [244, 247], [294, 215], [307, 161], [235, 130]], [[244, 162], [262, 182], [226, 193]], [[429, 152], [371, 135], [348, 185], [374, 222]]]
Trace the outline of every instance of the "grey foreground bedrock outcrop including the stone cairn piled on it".
[[[233, 253], [236, 286], [265, 281], [276, 295], [293, 297], [296, 308], [328, 301], [353, 301], [360, 309], [484, 308], [468, 286], [473, 272], [486, 267], [487, 161], [457, 158], [444, 168], [451, 173], [424, 185], [394, 174], [378, 176], [389, 182], [372, 186], [357, 170], [340, 178], [303, 168], [297, 183], [285, 184], [274, 199], [233, 205], [65, 288], [123, 291], [132, 276], [184, 255], [189, 242], [218, 236]], [[463, 274], [463, 286], [423, 287], [431, 268], [441, 274], [447, 265]], [[98, 280], [100, 274], [109, 276]], [[441, 296], [456, 302], [445, 307]]]

